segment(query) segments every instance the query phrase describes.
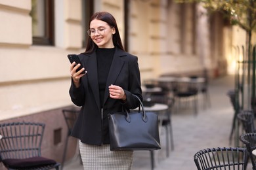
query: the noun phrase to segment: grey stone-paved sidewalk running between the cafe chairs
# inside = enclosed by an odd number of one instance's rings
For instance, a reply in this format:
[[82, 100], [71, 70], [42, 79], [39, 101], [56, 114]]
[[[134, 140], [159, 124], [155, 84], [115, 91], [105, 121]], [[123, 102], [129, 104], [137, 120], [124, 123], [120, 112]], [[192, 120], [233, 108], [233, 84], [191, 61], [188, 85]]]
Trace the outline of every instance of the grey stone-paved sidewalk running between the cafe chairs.
[[[234, 88], [234, 76], [224, 76], [212, 80], [209, 84], [211, 107], [203, 109], [200, 97], [198, 116], [191, 110], [183, 110], [173, 114], [173, 135], [175, 149], [170, 151], [169, 158], [165, 156], [165, 130], [161, 131], [161, 150], [156, 151], [155, 170], [196, 170], [194, 154], [203, 148], [218, 146], [233, 146], [229, 144], [234, 110], [230, 99], [226, 95]], [[82, 170], [79, 159], [70, 161], [64, 170]], [[250, 168], [250, 163], [247, 169]], [[133, 170], [148, 170], [150, 166], [150, 152], [136, 151]]]

